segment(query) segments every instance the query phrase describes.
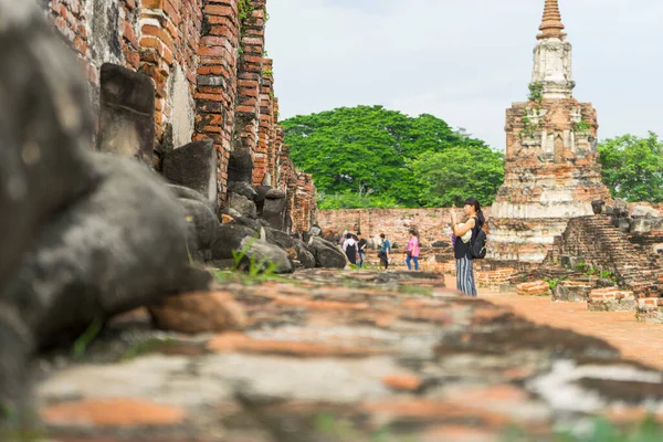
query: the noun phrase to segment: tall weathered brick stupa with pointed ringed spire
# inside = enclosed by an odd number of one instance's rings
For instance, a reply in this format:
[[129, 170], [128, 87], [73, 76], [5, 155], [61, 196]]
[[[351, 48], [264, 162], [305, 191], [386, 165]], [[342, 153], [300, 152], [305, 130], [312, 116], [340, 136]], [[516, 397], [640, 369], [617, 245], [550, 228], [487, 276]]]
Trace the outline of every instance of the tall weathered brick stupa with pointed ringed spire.
[[540, 262], [568, 220], [610, 200], [601, 183], [597, 113], [572, 97], [571, 44], [557, 0], [546, 0], [529, 101], [506, 110], [504, 185], [493, 204], [494, 260]]

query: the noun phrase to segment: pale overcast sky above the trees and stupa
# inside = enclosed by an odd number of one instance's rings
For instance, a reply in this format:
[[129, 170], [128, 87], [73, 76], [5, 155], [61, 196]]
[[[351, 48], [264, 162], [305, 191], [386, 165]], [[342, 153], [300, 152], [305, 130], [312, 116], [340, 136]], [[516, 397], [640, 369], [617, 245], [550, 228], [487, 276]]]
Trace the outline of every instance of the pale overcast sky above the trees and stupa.
[[[663, 136], [663, 1], [559, 0], [575, 97], [601, 139]], [[281, 116], [380, 104], [503, 149], [525, 101], [544, 0], [269, 0]]]

